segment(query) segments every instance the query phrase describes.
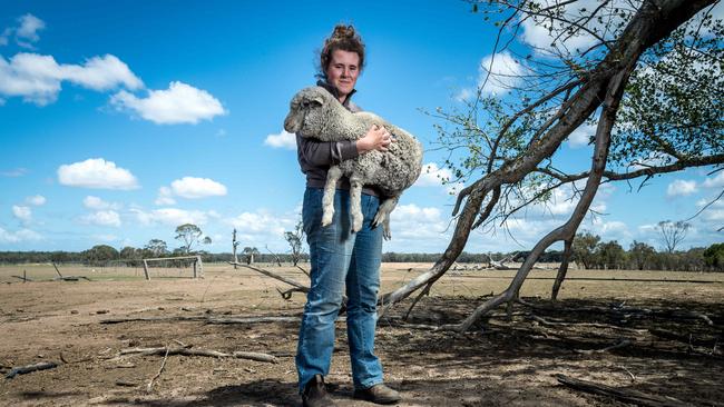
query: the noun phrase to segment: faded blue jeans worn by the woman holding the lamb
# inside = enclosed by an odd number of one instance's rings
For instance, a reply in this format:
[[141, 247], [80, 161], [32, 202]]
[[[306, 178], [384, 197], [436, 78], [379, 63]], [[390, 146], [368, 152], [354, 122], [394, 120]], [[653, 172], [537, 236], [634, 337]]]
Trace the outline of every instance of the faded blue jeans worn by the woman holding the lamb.
[[380, 384], [382, 366], [374, 355], [376, 300], [382, 260], [382, 228], [372, 228], [380, 200], [362, 195], [362, 230], [352, 234], [350, 192], [334, 196], [332, 225], [322, 227], [321, 188], [304, 192], [302, 220], [310, 244], [312, 286], [306, 296], [296, 351], [300, 393], [314, 375], [326, 376], [334, 349], [334, 320], [346, 286], [346, 331], [355, 388]]

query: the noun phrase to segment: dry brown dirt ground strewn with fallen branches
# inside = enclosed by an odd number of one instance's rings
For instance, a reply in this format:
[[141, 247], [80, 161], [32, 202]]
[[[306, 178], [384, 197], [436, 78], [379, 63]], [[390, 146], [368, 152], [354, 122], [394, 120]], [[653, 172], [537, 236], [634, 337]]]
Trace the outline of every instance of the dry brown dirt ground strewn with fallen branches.
[[[384, 265], [383, 291], [428, 266]], [[297, 269], [264, 267], [306, 281]], [[32, 282], [11, 277], [23, 270]], [[224, 265], [207, 265], [203, 279], [187, 278], [188, 269], [153, 270], [150, 281], [138, 269], [60, 270], [91, 281], [51, 281], [56, 272], [46, 265], [0, 267], [0, 370], [58, 364], [0, 378], [0, 405], [301, 405], [294, 369], [297, 321], [209, 324], [213, 318], [299, 317], [304, 297], [283, 299], [277, 288], [284, 284]], [[696, 406], [724, 406], [724, 275], [571, 270], [559, 301], [550, 302], [554, 274], [531, 274], [521, 290], [528, 305], [515, 305], [510, 319], [499, 309], [466, 334], [424, 326], [459, 322], [486, 295], [500, 292], [511, 271], [451, 271], [407, 321], [402, 317], [411, 299], [383, 316], [376, 348], [385, 380], [404, 397], [400, 406], [627, 405], [562, 386], [556, 374]], [[160, 318], [102, 324], [149, 317]], [[277, 363], [118, 357], [123, 349], [182, 344], [265, 353]], [[327, 381], [341, 406], [371, 406], [351, 398], [343, 321]]]

